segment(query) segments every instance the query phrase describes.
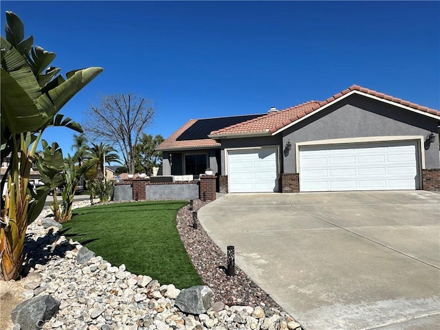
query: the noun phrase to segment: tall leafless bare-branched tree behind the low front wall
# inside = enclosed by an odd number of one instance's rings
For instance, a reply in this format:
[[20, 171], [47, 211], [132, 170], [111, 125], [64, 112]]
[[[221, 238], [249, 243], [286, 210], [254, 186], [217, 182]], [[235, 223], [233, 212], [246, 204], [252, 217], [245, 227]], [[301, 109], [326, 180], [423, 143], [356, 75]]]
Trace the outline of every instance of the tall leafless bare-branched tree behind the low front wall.
[[140, 133], [153, 123], [154, 113], [151, 100], [135, 94], [103, 96], [85, 113], [83, 126], [94, 140], [118, 146], [129, 173], [134, 173], [134, 147]]

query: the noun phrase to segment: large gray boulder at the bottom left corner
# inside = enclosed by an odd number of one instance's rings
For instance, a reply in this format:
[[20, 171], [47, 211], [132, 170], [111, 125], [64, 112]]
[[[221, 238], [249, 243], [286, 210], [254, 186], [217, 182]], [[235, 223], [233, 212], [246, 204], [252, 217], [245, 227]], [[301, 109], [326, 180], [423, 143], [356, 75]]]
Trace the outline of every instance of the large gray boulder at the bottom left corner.
[[18, 323], [21, 330], [39, 330], [46, 320], [58, 312], [58, 307], [59, 301], [52, 296], [36, 296], [12, 309], [12, 322]]

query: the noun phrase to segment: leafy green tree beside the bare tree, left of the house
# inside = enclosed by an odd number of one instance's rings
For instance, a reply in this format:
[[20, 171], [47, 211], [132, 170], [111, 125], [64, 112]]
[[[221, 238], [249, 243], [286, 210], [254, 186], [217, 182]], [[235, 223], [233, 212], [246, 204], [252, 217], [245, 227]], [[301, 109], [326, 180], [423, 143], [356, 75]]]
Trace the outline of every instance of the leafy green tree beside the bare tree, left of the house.
[[153, 167], [162, 164], [162, 152], [155, 148], [164, 142], [162, 135], [153, 137], [151, 134], [142, 133], [140, 142], [135, 145], [135, 170], [137, 172], [153, 175]]

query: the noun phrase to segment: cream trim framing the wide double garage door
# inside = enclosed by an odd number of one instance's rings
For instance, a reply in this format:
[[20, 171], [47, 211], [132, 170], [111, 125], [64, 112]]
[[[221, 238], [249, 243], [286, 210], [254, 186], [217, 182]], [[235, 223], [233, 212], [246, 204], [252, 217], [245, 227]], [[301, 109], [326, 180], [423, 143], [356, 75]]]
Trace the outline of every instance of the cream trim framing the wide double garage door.
[[425, 169], [425, 148], [423, 148], [425, 137], [423, 135], [395, 135], [395, 136], [367, 136], [367, 137], [348, 137], [342, 139], [316, 140], [307, 142], [296, 142], [295, 144], [295, 162], [296, 173], [300, 173], [300, 146], [325, 146], [327, 144], [355, 144], [369, 142], [401, 142], [417, 141], [419, 142], [419, 157], [421, 159], [421, 169]]

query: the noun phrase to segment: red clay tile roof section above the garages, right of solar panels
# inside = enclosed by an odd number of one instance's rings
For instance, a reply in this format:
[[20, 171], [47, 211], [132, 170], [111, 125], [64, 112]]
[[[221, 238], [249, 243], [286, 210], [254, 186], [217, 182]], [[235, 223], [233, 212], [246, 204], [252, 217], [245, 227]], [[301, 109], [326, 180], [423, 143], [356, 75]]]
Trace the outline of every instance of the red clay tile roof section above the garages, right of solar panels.
[[299, 104], [294, 107], [289, 107], [281, 111], [263, 115], [259, 118], [254, 118], [252, 120], [248, 120], [228, 127], [224, 127], [223, 129], [212, 131], [210, 133], [210, 137], [216, 138], [216, 135], [218, 135], [218, 137], [221, 137], [224, 135], [240, 135], [240, 134], [246, 135], [246, 134], [257, 134], [257, 133], [261, 133], [261, 134], [267, 133], [267, 135], [270, 135], [272, 133], [279, 131], [280, 129], [283, 129], [283, 127], [291, 124], [292, 122], [295, 122], [300, 118], [303, 118], [305, 115], [314, 112], [320, 109], [321, 107], [324, 107], [326, 104], [329, 104], [334, 100], [337, 100], [338, 98], [341, 98], [346, 94], [349, 94], [352, 91], [358, 91], [362, 94], [375, 96], [377, 98], [382, 98], [386, 101], [401, 104], [418, 111], [423, 111], [426, 113], [430, 113], [432, 115], [440, 116], [440, 111], [437, 111], [435, 109], [423, 107], [419, 104], [415, 104], [406, 100], [401, 100], [400, 98], [395, 98], [393, 96], [389, 96], [377, 91], [373, 91], [372, 89], [367, 89], [364, 87], [360, 87], [358, 85], [353, 85], [348, 89], [344, 89], [344, 91], [341, 91], [340, 93], [335, 94], [330, 98], [327, 98], [327, 100], [325, 101], [305, 102], [303, 104]]

